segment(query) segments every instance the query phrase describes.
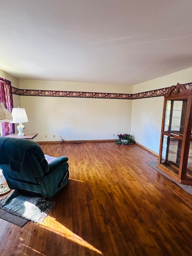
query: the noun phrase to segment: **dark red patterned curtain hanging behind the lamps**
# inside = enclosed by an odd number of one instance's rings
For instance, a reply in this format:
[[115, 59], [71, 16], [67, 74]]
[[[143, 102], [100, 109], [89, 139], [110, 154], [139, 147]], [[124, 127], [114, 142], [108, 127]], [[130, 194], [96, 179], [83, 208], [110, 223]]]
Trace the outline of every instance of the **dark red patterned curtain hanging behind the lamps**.
[[[0, 102], [4, 103], [4, 106], [10, 112], [13, 109], [13, 94], [12, 86], [9, 80], [0, 77]], [[9, 122], [1, 123], [3, 136], [15, 132], [15, 125]]]

